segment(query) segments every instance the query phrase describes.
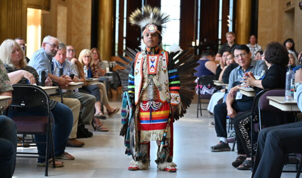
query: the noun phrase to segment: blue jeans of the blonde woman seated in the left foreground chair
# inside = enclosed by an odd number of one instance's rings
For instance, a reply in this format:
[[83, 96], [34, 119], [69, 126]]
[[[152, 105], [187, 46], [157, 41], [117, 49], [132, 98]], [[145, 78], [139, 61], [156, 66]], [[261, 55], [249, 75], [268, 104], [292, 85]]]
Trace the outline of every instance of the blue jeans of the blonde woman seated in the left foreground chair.
[[[28, 108], [17, 108], [8, 110], [8, 116], [47, 116], [47, 108], [41, 107], [28, 107]], [[52, 135], [54, 143], [54, 156], [60, 156], [64, 153], [68, 136], [71, 132], [73, 115], [71, 110], [64, 104], [58, 103], [51, 110], [52, 124]], [[35, 135], [34, 140], [36, 142], [46, 142], [46, 136]], [[38, 153], [45, 154], [46, 145], [37, 144]], [[51, 153], [51, 149], [50, 149]], [[40, 156], [43, 156], [42, 154]], [[39, 163], [45, 162], [45, 159], [39, 158]]]

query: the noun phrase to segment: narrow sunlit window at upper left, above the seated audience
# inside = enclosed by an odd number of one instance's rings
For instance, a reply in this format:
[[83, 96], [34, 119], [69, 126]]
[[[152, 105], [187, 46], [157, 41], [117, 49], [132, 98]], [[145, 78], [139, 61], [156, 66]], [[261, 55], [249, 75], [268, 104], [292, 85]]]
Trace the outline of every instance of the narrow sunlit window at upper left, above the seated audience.
[[41, 10], [27, 8], [27, 34], [26, 56], [30, 59], [32, 54], [41, 47]]

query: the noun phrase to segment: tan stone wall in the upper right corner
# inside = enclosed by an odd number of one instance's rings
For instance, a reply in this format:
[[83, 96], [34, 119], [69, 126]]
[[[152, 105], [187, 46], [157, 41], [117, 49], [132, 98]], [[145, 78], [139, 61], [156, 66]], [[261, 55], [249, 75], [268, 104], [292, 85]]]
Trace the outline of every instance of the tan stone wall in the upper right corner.
[[[287, 2], [291, 1], [291, 5]], [[265, 48], [271, 41], [283, 43], [293, 38], [302, 51], [302, 10], [300, 0], [259, 0], [258, 43]]]

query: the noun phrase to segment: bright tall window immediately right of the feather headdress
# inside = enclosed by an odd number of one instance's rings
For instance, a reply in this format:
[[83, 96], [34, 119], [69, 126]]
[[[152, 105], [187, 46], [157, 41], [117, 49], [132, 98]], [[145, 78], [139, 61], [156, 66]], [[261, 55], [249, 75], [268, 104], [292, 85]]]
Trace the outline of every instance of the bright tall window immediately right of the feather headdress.
[[170, 15], [163, 33], [163, 48], [169, 50], [173, 44], [179, 46], [180, 0], [161, 0], [161, 11]]

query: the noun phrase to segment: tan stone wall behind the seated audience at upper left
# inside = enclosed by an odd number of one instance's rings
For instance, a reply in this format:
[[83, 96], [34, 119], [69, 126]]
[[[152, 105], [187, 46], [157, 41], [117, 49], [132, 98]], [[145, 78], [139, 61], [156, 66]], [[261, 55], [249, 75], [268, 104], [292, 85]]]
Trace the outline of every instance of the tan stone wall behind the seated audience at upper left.
[[26, 37], [27, 7], [42, 10], [41, 40], [58, 37], [76, 49], [90, 49], [91, 0], [0, 0], [0, 43]]

